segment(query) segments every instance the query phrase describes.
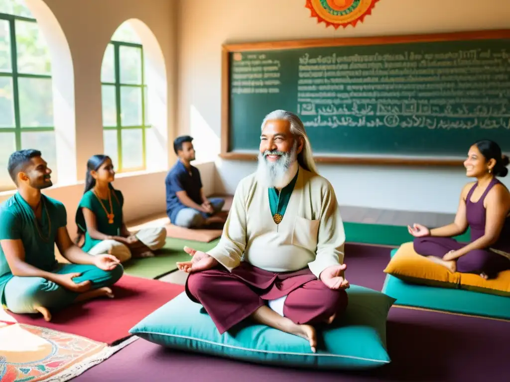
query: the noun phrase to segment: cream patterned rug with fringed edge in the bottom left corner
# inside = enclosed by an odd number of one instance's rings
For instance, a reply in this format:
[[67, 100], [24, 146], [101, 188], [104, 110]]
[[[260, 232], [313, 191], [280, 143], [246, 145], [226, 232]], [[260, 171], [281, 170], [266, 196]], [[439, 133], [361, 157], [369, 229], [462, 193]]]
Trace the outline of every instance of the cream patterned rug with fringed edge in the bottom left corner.
[[0, 322], [0, 380], [69, 380], [135, 339], [132, 337], [111, 347], [39, 326]]

